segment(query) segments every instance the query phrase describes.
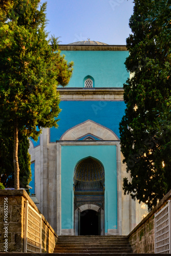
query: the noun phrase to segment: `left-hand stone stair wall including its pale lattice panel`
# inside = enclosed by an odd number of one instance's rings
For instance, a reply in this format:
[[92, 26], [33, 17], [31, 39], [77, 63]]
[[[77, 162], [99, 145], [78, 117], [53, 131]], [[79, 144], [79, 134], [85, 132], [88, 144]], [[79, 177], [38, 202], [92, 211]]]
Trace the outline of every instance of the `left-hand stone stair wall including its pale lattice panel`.
[[53, 252], [57, 234], [25, 190], [0, 190], [0, 252]]

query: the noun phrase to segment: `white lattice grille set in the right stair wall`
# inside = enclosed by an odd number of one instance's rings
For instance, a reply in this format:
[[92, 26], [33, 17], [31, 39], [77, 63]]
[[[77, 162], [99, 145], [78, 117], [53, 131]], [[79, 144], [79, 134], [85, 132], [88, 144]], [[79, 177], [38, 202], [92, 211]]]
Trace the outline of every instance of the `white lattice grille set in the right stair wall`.
[[155, 214], [155, 253], [170, 253], [170, 200]]

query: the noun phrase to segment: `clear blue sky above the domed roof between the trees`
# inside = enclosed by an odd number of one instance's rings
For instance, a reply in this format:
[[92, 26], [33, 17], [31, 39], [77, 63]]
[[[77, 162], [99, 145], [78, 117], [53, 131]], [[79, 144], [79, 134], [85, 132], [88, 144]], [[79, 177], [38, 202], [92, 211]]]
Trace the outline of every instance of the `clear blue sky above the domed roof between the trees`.
[[47, 2], [47, 32], [60, 44], [90, 40], [125, 45], [133, 0], [41, 0]]

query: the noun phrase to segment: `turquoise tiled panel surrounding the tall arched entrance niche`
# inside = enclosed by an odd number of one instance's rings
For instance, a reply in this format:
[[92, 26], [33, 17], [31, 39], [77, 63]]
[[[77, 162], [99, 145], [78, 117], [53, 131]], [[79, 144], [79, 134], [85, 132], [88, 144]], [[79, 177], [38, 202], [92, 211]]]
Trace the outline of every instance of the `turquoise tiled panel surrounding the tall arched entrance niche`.
[[[73, 176], [75, 165], [83, 158], [94, 157], [104, 166], [105, 232], [117, 228], [117, 166], [116, 146], [112, 145], [62, 145], [61, 146], [61, 228], [74, 228]], [[110, 202], [110, 203], [109, 203]]]

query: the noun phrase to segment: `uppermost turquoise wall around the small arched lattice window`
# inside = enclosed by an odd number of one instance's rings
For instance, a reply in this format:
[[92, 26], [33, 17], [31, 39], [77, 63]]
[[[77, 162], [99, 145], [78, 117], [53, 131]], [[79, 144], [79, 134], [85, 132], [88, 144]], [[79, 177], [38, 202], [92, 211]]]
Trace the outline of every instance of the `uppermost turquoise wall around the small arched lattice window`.
[[74, 71], [68, 87], [84, 87], [84, 77], [94, 78], [95, 88], [123, 87], [129, 77], [124, 62], [128, 51], [61, 51], [68, 61], [74, 61]]

